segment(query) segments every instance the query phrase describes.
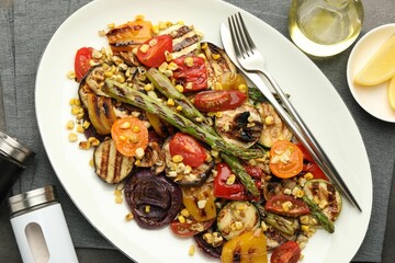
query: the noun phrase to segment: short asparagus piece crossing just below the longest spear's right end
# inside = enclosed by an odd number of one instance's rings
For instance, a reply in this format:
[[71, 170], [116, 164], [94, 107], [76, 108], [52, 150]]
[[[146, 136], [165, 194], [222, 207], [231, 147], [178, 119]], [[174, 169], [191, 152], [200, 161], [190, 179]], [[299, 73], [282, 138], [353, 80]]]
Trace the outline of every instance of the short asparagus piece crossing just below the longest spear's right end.
[[253, 196], [259, 196], [259, 191], [253, 183], [251, 176], [246, 172], [246, 169], [240, 164], [236, 157], [227, 153], [222, 153], [221, 157], [229, 164], [232, 171], [238, 176], [241, 184], [250, 192]]

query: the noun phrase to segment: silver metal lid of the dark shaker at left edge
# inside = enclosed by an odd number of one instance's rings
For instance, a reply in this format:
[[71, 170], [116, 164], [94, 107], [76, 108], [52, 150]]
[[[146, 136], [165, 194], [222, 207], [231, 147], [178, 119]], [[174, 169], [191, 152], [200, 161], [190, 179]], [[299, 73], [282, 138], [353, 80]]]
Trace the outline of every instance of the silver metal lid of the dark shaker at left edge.
[[16, 139], [13, 139], [7, 134], [2, 133], [1, 130], [0, 130], [0, 151], [21, 163], [24, 163], [27, 157], [34, 155], [33, 151], [27, 149]]

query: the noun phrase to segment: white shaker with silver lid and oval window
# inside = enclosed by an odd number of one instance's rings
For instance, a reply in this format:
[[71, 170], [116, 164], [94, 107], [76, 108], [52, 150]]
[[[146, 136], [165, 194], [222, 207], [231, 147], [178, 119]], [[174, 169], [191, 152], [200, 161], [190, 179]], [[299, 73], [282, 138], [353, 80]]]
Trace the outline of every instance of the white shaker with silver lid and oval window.
[[55, 186], [11, 196], [9, 207], [24, 263], [78, 262]]

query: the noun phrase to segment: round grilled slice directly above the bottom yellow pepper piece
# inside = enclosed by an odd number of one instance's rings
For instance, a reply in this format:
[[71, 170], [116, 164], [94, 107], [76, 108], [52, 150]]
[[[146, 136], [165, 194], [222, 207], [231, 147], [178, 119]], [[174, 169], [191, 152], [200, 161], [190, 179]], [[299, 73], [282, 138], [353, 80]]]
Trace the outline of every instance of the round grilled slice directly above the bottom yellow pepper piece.
[[249, 202], [234, 201], [226, 204], [217, 216], [217, 228], [226, 240], [260, 226], [257, 207]]

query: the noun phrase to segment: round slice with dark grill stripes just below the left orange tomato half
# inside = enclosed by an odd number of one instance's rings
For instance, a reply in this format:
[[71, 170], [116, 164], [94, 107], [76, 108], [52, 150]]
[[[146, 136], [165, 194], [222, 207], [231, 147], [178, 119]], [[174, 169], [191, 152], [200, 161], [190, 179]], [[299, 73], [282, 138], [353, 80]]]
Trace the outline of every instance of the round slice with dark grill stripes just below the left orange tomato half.
[[129, 175], [134, 158], [116, 150], [112, 139], [102, 141], [93, 152], [94, 172], [106, 183], [116, 184]]

